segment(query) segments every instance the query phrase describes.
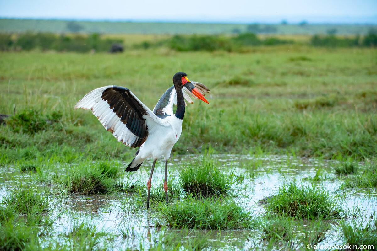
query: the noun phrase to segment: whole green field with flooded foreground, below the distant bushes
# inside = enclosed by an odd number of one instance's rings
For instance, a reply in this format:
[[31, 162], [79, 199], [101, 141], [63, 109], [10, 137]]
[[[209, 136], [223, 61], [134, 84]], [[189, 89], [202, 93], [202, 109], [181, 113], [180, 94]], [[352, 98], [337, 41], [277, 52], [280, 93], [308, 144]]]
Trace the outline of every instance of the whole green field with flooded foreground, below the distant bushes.
[[[300, 44], [1, 53], [0, 114], [15, 116], [0, 125], [0, 249], [375, 243], [376, 59], [371, 48]], [[207, 85], [210, 104], [187, 106], [169, 205], [158, 161], [147, 212], [151, 163], [123, 172], [136, 149], [73, 107], [97, 87], [120, 85], [152, 109], [177, 71]]]

